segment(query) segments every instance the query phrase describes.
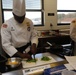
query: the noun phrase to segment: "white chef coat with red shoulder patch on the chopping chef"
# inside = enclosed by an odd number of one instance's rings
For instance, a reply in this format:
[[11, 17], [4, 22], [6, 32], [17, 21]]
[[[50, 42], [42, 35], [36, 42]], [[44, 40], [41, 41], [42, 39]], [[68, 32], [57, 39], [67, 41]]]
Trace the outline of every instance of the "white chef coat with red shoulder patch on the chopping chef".
[[[23, 23], [18, 23], [13, 17], [1, 26], [2, 47], [11, 57], [18, 47], [26, 45], [28, 42], [38, 44], [37, 32], [30, 19], [25, 18]], [[29, 49], [29, 48], [28, 48]]]

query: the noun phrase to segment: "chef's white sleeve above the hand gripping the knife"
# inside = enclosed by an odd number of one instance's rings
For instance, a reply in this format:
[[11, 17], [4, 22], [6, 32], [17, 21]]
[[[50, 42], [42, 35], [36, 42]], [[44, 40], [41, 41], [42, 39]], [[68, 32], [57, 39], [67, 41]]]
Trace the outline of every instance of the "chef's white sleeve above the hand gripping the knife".
[[34, 29], [34, 26], [31, 26], [31, 43], [35, 43], [36, 46], [38, 45], [38, 36], [37, 36], [37, 30]]

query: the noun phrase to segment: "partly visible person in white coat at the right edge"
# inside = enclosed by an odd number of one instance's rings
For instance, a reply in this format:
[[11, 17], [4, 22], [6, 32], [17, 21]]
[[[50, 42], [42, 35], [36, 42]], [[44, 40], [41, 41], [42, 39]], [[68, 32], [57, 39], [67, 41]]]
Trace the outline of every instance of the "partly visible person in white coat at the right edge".
[[70, 37], [73, 40], [74, 46], [74, 56], [76, 56], [76, 19], [74, 19], [70, 24]]

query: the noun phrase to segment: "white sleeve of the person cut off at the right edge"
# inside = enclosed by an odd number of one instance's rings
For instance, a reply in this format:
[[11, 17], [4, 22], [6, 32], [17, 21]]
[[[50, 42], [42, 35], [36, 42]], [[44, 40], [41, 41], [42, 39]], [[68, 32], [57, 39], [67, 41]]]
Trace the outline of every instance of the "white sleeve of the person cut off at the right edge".
[[70, 37], [76, 42], [76, 20], [73, 20], [70, 24]]

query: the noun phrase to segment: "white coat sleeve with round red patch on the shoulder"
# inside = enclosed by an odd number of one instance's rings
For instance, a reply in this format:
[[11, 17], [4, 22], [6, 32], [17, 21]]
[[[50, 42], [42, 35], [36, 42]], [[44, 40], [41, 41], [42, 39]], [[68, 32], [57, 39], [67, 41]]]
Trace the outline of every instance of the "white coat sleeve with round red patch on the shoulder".
[[11, 38], [10, 27], [7, 24], [3, 24], [1, 26], [2, 47], [10, 57], [17, 52], [15, 47], [12, 45]]

